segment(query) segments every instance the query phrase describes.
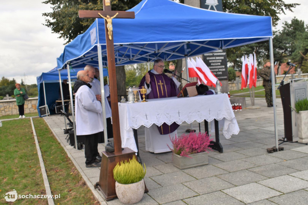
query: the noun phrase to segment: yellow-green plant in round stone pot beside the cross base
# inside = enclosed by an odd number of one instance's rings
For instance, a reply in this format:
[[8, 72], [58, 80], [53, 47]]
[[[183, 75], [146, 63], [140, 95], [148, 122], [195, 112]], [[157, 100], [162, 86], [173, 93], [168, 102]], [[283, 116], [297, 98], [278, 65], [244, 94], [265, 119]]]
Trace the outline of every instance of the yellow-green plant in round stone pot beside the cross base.
[[139, 202], [144, 194], [144, 176], [146, 167], [133, 157], [129, 161], [117, 163], [113, 169], [113, 178], [115, 179], [115, 192], [119, 200], [124, 204], [133, 204]]

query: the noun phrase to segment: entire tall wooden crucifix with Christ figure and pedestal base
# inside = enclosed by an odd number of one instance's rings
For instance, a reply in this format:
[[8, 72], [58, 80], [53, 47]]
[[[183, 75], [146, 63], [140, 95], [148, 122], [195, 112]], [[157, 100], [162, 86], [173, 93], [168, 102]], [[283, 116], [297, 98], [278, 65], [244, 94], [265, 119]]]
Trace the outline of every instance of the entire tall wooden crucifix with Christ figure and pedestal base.
[[[86, 11], [79, 10], [79, 18], [100, 18], [103, 16], [112, 16], [112, 18], [135, 18], [134, 12], [127, 11], [112, 11], [110, 0], [103, 0], [104, 10], [100, 11]], [[108, 19], [108, 18], [107, 18]], [[112, 114], [112, 130], [113, 130], [113, 141], [114, 141], [114, 152], [108, 153], [103, 151], [102, 163], [99, 175], [99, 182], [94, 187], [99, 188], [102, 191], [107, 201], [116, 197], [115, 193], [115, 180], [113, 179], [113, 168], [120, 161], [129, 160], [135, 156], [135, 152], [129, 148], [124, 148], [122, 151], [121, 147], [121, 134], [120, 134], [120, 120], [119, 120], [119, 107], [118, 107], [118, 91], [116, 85], [116, 72], [115, 72], [115, 51], [113, 45], [113, 32], [112, 24], [108, 19], [105, 21], [105, 34], [106, 34], [106, 48], [107, 48], [107, 61], [108, 61], [108, 74], [110, 83], [110, 99], [111, 99], [111, 114]], [[107, 23], [106, 23], [107, 22]], [[108, 26], [108, 25], [111, 26]], [[110, 30], [110, 32], [109, 32]], [[98, 57], [101, 59], [101, 45], [98, 47]], [[99, 69], [103, 68], [101, 62], [99, 63]], [[101, 73], [103, 71], [101, 70]], [[101, 82], [102, 83], [102, 82]], [[103, 88], [101, 88], [103, 89]], [[147, 189], [145, 190], [147, 191]]]

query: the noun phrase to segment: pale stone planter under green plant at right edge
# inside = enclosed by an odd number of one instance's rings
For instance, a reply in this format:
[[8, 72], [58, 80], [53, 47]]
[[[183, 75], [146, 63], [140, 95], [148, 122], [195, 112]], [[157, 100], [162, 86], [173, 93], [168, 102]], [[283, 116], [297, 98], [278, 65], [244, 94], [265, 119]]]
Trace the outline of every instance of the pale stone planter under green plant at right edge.
[[308, 143], [308, 111], [299, 111], [297, 116], [298, 142]]

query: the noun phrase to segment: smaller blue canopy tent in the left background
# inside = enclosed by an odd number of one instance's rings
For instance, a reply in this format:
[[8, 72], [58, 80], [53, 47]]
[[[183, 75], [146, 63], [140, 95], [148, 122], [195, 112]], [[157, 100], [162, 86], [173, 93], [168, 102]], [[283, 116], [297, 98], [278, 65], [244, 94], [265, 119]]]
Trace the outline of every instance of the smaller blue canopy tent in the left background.
[[[77, 78], [77, 72], [79, 70], [83, 70], [83, 68], [74, 68], [70, 69], [70, 76], [71, 79]], [[104, 76], [108, 76], [108, 70], [105, 68], [103, 69]], [[60, 76], [62, 80], [67, 80], [67, 70], [60, 70]], [[59, 99], [59, 88], [60, 88], [60, 79], [59, 79], [59, 71], [55, 67], [54, 69], [50, 70], [49, 72], [42, 73], [39, 77], [36, 78], [37, 85], [38, 85], [38, 92], [39, 98], [37, 103], [37, 110], [40, 114], [39, 107], [47, 105], [50, 111], [50, 114], [55, 114], [54, 108], [52, 105], [55, 104], [55, 101]], [[45, 88], [45, 89], [44, 89]], [[45, 103], [46, 99], [46, 103]]]

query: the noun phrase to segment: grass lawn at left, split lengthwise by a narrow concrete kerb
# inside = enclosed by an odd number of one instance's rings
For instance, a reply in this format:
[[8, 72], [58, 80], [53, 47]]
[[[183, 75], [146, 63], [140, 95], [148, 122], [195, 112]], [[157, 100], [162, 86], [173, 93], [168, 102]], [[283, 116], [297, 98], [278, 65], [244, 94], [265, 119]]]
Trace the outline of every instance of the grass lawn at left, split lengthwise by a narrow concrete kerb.
[[[95, 204], [95, 198], [42, 118], [33, 119], [55, 204]], [[3, 121], [0, 127], [0, 194], [45, 194], [30, 119]], [[6, 204], [4, 197], [0, 204]], [[48, 204], [47, 199], [17, 199], [12, 204]]]

